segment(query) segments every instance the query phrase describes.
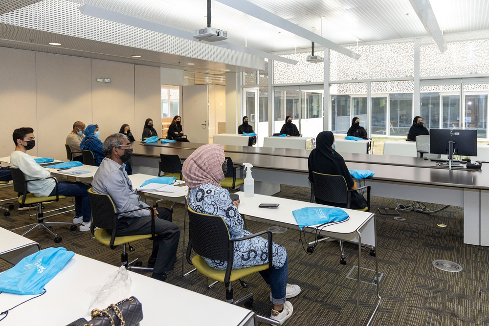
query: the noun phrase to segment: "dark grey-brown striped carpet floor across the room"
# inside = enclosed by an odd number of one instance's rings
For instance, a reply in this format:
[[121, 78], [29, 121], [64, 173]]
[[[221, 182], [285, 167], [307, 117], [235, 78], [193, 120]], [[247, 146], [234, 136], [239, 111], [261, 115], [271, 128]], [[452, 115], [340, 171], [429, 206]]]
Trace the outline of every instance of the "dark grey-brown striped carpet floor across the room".
[[[309, 189], [306, 188], [282, 186], [282, 191], [275, 196], [308, 201], [309, 194]], [[0, 188], [0, 198], [13, 196], [12, 187]], [[46, 209], [57, 208], [67, 202], [70, 201], [46, 204]], [[395, 207], [397, 202], [409, 203], [372, 197], [371, 211], [376, 213], [377, 218], [379, 272], [383, 273], [380, 281], [382, 302], [372, 325], [489, 325], [489, 248], [463, 244], [463, 209], [451, 206], [434, 215], [401, 211], [400, 217], [404, 217], [405, 221], [377, 214], [378, 207]], [[148, 204], [152, 204], [152, 201], [148, 200]], [[169, 207], [169, 203], [160, 205]], [[432, 210], [441, 207], [426, 205]], [[183, 205], [176, 204], [174, 209], [174, 222], [183, 228]], [[71, 216], [68, 213], [49, 220], [69, 221]], [[12, 211], [9, 217], [0, 216], [0, 226], [6, 229], [34, 221], [35, 217], [29, 217], [27, 212], [17, 210]], [[439, 227], [438, 223], [445, 224], [446, 227]], [[251, 232], [268, 227], [267, 224], [246, 222], [246, 228]], [[55, 231], [63, 237], [59, 244], [54, 243], [51, 236], [42, 231], [36, 231], [28, 238], [39, 242], [42, 248], [62, 246], [99, 261], [120, 264], [120, 248], [111, 250], [90, 239], [89, 232], [69, 231], [67, 227], [57, 227]], [[337, 241], [319, 243], [313, 254], [308, 255], [299, 242], [298, 231], [289, 230], [283, 234], [275, 234], [273, 239], [287, 248], [289, 283], [299, 284], [302, 288], [298, 297], [290, 299], [294, 313], [286, 325], [355, 325], [356, 281], [347, 279], [347, 275], [357, 265], [357, 246], [345, 244], [347, 264], [341, 265]], [[308, 240], [312, 239], [309, 235]], [[222, 284], [207, 289], [206, 278], [198, 272], [185, 278], [180, 276], [182, 245], [183, 237], [180, 238], [175, 270], [169, 273], [166, 282], [225, 300]], [[136, 250], [130, 253], [130, 259], [139, 257], [146, 264], [151, 253], [151, 242], [142, 240], [133, 243], [133, 246]], [[374, 269], [375, 261], [369, 255], [369, 249], [363, 249], [361, 255], [362, 266]], [[439, 270], [432, 265], [432, 261], [438, 259], [459, 263], [463, 271], [450, 273]], [[9, 267], [11, 265], [0, 261], [0, 271]], [[183, 267], [185, 271], [191, 269], [186, 261]], [[374, 272], [362, 270], [362, 280], [372, 281], [374, 277]], [[247, 289], [243, 289], [238, 282], [233, 284], [235, 298], [252, 292], [252, 310], [268, 316], [271, 303], [267, 285], [259, 274], [249, 276], [245, 281], [249, 283]], [[360, 298], [360, 318], [366, 322], [377, 302], [375, 285], [361, 283]]]

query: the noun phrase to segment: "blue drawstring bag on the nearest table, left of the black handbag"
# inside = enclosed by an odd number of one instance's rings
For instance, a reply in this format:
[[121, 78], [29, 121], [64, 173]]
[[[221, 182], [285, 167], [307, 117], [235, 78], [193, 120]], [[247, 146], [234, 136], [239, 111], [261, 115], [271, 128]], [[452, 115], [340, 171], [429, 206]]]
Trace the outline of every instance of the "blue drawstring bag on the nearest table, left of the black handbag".
[[58, 274], [75, 255], [65, 248], [46, 248], [29, 255], [0, 274], [0, 292], [41, 294], [44, 285]]

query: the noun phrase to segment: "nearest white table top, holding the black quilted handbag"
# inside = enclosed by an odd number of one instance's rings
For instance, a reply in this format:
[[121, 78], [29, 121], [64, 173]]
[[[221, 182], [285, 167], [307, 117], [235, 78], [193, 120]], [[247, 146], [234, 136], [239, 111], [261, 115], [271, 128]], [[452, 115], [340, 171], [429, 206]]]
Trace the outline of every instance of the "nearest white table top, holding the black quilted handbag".
[[[107, 247], [107, 250], [110, 250]], [[114, 252], [116, 255], [116, 252]], [[88, 288], [100, 286], [105, 278], [118, 269], [116, 266], [75, 254], [63, 270], [46, 284], [46, 293], [12, 309], [1, 322], [2, 326], [67, 325], [78, 318], [90, 320]], [[129, 272], [133, 285], [129, 296], [142, 304], [144, 318], [141, 326], [238, 326], [254, 313], [175, 285]], [[224, 294], [223, 294], [224, 295]], [[31, 295], [0, 295], [0, 310], [5, 311]], [[100, 307], [106, 308], [106, 307]]]

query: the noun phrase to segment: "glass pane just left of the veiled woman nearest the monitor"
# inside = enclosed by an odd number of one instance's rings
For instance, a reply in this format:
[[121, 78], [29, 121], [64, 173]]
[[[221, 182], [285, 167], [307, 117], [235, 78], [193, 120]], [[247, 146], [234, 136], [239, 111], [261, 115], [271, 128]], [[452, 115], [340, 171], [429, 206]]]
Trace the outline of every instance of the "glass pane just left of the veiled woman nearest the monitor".
[[390, 135], [406, 136], [413, 124], [413, 94], [390, 94]]

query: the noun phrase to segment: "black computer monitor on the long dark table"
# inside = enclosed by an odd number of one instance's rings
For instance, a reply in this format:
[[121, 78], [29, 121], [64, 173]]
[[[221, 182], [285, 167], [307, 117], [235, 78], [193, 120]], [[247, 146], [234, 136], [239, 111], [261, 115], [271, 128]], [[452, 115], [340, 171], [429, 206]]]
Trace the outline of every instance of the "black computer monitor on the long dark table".
[[[430, 153], [477, 156], [477, 130], [430, 129]], [[452, 142], [453, 152], [448, 151]]]

